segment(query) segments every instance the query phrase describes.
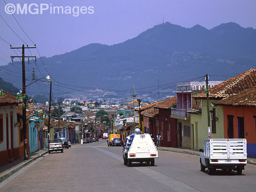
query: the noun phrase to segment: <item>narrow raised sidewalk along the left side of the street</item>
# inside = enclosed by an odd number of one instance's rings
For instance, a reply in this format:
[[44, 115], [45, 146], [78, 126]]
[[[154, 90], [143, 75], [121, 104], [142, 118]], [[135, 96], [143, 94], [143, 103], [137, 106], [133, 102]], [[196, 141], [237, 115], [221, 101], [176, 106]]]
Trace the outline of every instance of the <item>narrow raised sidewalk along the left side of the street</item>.
[[19, 159], [14, 160], [12, 163], [0, 166], [0, 183], [6, 178], [10, 177], [15, 172], [27, 166], [29, 163], [32, 163], [33, 161], [47, 153], [48, 149], [43, 148], [39, 151], [36, 151], [35, 153], [29, 154], [28, 160], [24, 160], [24, 157], [20, 157]]

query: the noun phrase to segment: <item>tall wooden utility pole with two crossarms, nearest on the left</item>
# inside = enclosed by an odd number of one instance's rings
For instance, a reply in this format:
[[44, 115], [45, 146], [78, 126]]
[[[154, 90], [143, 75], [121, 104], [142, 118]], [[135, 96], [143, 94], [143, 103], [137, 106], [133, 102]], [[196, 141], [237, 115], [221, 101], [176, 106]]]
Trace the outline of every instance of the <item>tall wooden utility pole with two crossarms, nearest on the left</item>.
[[[35, 47], [26, 47], [26, 49], [33, 49]], [[25, 47], [24, 44], [22, 47], [11, 47], [11, 49], [22, 49], [22, 56], [11, 56], [11, 58], [20, 58], [22, 57], [22, 94], [23, 94], [23, 108], [22, 108], [22, 121], [23, 121], [23, 147], [24, 147], [24, 160], [29, 159], [28, 155], [28, 140], [27, 140], [27, 127], [26, 127], [26, 79], [25, 79], [25, 57], [29, 58], [29, 56], [25, 56]], [[36, 56], [30, 56], [36, 58]]]

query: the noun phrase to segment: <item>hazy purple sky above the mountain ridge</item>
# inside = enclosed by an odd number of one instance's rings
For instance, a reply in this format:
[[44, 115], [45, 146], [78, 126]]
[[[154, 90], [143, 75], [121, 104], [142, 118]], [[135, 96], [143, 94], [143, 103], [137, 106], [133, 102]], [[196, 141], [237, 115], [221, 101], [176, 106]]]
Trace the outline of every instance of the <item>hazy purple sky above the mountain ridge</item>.
[[[27, 14], [13, 13], [20, 26], [37, 45], [41, 56], [51, 57], [63, 54], [91, 43], [118, 44], [134, 38], [141, 32], [163, 22], [174, 23], [186, 28], [196, 24], [212, 29], [221, 23], [235, 22], [242, 27], [256, 29], [255, 0], [5, 0], [7, 4], [17, 3], [23, 8], [27, 3]], [[0, 0], [0, 15], [12, 30], [33, 47], [32, 41], [20, 29], [12, 15], [5, 11], [4, 0]], [[35, 3], [35, 5], [31, 5]], [[43, 9], [41, 10], [40, 6]], [[31, 5], [31, 11], [29, 6]], [[35, 13], [38, 5], [39, 14]], [[63, 14], [53, 14], [53, 6], [62, 6]], [[71, 8], [71, 14], [68, 6]], [[85, 6], [82, 14], [77, 6]], [[93, 7], [93, 8], [92, 8]], [[52, 8], [52, 14], [50, 9]], [[74, 8], [74, 12], [73, 12]], [[42, 11], [42, 14], [40, 14]], [[85, 12], [83, 8], [82, 12]], [[90, 13], [89, 13], [90, 12]], [[0, 38], [12, 45], [21, 47], [23, 42], [0, 18]], [[16, 55], [9, 44], [0, 39], [0, 65], [10, 62], [10, 55]], [[32, 55], [39, 57], [32, 50]], [[26, 55], [30, 54], [28, 51]]]

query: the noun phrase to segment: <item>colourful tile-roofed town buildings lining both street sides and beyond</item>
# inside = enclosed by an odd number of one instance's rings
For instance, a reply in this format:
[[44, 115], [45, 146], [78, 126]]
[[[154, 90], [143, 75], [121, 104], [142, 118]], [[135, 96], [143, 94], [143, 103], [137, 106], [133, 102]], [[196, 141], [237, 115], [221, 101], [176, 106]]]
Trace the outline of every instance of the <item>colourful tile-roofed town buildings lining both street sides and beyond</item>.
[[[56, 107], [49, 108], [49, 103], [34, 103], [30, 99], [25, 107], [19, 96], [2, 90], [0, 166], [23, 157], [24, 143], [30, 154], [48, 148], [49, 139], [66, 137], [71, 144], [75, 144], [88, 137], [102, 139], [103, 134], [108, 133], [120, 134], [124, 141], [136, 128], [151, 134], [155, 143], [160, 134], [162, 147], [197, 151], [204, 148], [204, 140], [208, 138], [245, 138], [248, 157], [256, 158], [255, 87], [256, 69], [251, 68], [223, 82], [177, 83], [176, 96], [151, 104], [135, 97], [122, 106], [108, 103], [98, 106], [92, 101], [65, 99], [60, 104], [63, 115], [57, 117], [51, 116]], [[75, 105], [71, 101], [76, 101]], [[74, 107], [75, 110], [71, 111]], [[23, 122], [24, 108], [26, 122]]]

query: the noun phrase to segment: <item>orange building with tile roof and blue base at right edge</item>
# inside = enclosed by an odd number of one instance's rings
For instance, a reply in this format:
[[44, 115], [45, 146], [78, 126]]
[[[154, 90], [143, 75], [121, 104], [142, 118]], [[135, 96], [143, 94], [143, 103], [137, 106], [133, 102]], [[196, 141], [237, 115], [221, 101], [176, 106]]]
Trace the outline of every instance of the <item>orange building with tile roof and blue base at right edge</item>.
[[215, 102], [223, 106], [224, 138], [247, 140], [248, 157], [256, 157], [256, 87]]

